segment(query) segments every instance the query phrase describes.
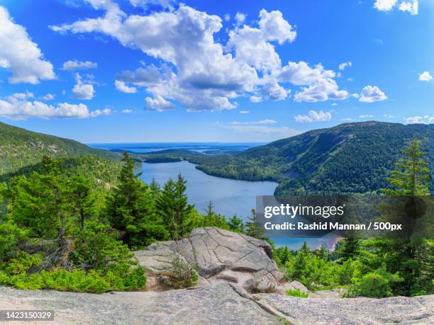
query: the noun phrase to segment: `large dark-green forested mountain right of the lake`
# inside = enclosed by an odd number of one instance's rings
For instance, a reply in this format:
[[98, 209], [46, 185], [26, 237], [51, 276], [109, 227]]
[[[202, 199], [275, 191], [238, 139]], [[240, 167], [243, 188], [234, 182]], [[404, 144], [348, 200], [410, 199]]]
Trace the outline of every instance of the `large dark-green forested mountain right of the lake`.
[[196, 168], [214, 176], [277, 181], [277, 195], [365, 193], [388, 185], [386, 177], [413, 137], [434, 176], [434, 125], [375, 121], [311, 130], [226, 159], [208, 159]]

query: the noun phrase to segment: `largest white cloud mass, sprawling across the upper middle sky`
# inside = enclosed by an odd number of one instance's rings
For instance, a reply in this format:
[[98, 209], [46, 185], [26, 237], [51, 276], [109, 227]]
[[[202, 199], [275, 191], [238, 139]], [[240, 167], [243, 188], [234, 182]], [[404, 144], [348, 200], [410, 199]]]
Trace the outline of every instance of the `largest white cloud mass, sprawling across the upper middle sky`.
[[[189, 6], [128, 16], [112, 1], [87, 1], [104, 9], [104, 16], [50, 28], [59, 33], [103, 33], [162, 61], [161, 67], [151, 69], [158, 73], [154, 81], [141, 80], [137, 70], [130, 72], [132, 84], [145, 87], [153, 98], [178, 101], [188, 110], [223, 110], [235, 108], [234, 98], [246, 93], [272, 100], [288, 96], [271, 74], [281, 68], [273, 43], [292, 42], [296, 32], [279, 11], [260, 11], [258, 27], [235, 26], [223, 45], [214, 40], [221, 18]], [[129, 86], [121, 76], [116, 79]]]

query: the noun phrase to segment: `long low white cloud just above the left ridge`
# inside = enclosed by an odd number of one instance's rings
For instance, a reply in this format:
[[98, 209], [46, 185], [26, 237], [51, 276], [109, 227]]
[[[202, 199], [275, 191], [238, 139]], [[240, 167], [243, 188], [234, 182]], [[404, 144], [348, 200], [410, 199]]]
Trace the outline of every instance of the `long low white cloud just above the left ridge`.
[[86, 105], [59, 103], [57, 106], [40, 101], [28, 101], [29, 96], [15, 93], [6, 100], [0, 99], [0, 116], [14, 120], [27, 118], [94, 118], [99, 115], [109, 115], [111, 110], [89, 111]]

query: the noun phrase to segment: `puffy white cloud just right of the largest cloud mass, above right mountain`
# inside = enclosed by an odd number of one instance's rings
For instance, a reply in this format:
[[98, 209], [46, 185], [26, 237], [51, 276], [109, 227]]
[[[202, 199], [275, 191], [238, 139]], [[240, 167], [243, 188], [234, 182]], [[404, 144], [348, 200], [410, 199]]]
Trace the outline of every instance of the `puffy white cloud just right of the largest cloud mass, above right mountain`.
[[289, 62], [283, 67], [279, 75], [279, 81], [290, 82], [301, 87], [297, 91], [295, 101], [327, 101], [329, 99], [343, 100], [348, 97], [347, 91], [340, 91], [335, 81], [335, 72], [325, 70], [322, 64], [311, 68], [306, 62]]

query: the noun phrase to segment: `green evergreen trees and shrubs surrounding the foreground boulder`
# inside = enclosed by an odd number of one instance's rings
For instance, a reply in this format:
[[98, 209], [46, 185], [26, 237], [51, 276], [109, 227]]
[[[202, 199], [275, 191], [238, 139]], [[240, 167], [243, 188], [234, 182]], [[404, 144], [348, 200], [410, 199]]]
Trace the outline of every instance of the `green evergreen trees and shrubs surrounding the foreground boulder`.
[[[396, 155], [382, 195], [430, 195], [429, 156], [414, 138]], [[263, 238], [255, 210], [247, 222], [190, 205], [187, 181], [146, 184], [137, 162], [101, 156], [40, 161], [9, 173], [0, 183], [0, 285], [77, 292], [144, 290], [145, 272], [131, 251], [154, 241], [181, 239], [196, 227], [220, 227]], [[106, 174], [106, 176], [104, 176]], [[273, 246], [274, 247], [274, 246]], [[432, 239], [344, 239], [334, 251], [274, 248], [286, 280], [309, 290], [347, 288], [348, 297], [433, 293]], [[197, 280], [194, 266], [174, 260], [173, 287]], [[294, 295], [294, 292], [291, 293]]]

